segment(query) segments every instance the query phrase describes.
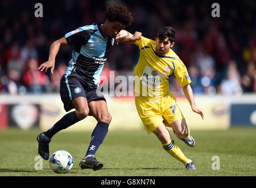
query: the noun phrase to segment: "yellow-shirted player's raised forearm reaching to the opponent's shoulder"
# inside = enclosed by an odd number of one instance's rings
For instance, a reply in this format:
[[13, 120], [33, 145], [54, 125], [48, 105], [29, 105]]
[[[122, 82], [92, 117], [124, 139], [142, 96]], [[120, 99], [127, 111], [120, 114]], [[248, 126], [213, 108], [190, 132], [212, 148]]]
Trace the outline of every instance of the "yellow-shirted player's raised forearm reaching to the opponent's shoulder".
[[116, 43], [118, 44], [119, 42], [134, 42], [140, 39], [140, 36], [142, 35], [141, 32], [134, 32], [134, 34], [132, 35], [132, 33], [129, 33], [126, 30], [122, 30], [120, 31], [117, 35], [116, 35]]

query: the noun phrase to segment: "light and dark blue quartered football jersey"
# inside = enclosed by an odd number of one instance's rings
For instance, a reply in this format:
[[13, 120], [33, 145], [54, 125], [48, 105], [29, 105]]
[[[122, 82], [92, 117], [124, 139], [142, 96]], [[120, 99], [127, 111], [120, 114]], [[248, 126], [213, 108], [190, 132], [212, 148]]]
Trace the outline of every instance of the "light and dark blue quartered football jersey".
[[100, 25], [93, 24], [68, 32], [65, 39], [70, 45], [75, 45], [65, 74], [99, 86], [100, 74], [114, 45], [114, 38], [106, 38]]

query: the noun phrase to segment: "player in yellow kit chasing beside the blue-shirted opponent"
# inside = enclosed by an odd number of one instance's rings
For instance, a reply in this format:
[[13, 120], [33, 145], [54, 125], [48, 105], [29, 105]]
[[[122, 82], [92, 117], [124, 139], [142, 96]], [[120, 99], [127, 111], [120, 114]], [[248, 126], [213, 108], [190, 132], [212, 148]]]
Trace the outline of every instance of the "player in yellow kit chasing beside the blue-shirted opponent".
[[172, 127], [176, 137], [191, 147], [195, 146], [195, 140], [190, 135], [176, 98], [169, 91], [168, 78], [172, 73], [182, 87], [193, 112], [199, 113], [204, 119], [204, 113], [195, 105], [186, 66], [171, 49], [175, 35], [176, 32], [171, 26], [160, 28], [155, 41], [141, 36], [140, 32], [132, 35], [123, 30], [117, 35], [116, 42], [133, 43], [139, 49], [134, 69], [135, 104], [147, 133], [153, 132], [162, 143], [163, 149], [185, 164], [186, 169], [196, 169], [193, 161], [182, 153], [166, 129], [166, 126]]

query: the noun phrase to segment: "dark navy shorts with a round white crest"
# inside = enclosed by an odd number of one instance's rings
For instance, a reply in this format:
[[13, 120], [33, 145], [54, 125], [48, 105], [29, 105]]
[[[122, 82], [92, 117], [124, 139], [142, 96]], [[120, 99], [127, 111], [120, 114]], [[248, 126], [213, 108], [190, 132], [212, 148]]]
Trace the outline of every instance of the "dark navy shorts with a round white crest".
[[98, 86], [91, 83], [80, 82], [76, 76], [66, 74], [64, 74], [60, 80], [60, 96], [66, 112], [74, 108], [71, 105], [71, 100], [78, 96], [86, 98], [88, 103], [96, 99], [106, 101]]

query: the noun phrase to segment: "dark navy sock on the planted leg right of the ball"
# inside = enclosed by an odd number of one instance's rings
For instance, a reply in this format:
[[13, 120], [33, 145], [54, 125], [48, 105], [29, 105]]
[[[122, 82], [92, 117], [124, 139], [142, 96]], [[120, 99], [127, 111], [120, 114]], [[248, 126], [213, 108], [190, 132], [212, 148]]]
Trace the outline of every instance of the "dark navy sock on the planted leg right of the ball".
[[97, 149], [103, 142], [105, 136], [107, 135], [107, 131], [109, 128], [109, 123], [105, 122], [98, 122], [96, 127], [93, 130], [93, 133], [91, 133], [91, 142], [88, 147], [87, 155], [94, 155], [97, 152]]

